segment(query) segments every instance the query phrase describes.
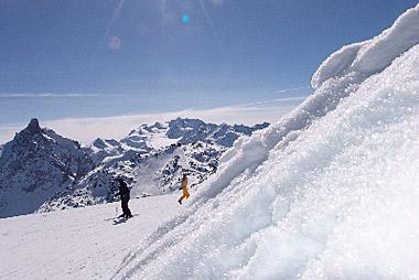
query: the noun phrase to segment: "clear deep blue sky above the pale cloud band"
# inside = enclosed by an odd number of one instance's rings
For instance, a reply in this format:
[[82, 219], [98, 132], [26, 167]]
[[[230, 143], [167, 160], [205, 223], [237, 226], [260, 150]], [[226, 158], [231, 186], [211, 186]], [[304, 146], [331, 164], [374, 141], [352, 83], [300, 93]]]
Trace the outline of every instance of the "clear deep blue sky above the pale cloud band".
[[0, 123], [308, 95], [319, 64], [409, 0], [2, 0]]

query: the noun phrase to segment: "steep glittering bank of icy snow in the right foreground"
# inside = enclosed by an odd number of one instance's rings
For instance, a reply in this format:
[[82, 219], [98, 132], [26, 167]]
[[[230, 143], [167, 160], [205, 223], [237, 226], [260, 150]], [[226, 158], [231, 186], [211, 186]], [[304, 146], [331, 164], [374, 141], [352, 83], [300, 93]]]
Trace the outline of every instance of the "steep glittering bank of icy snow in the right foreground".
[[418, 279], [419, 6], [333, 54], [115, 278]]

